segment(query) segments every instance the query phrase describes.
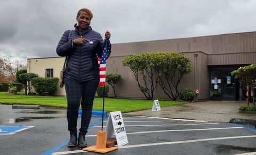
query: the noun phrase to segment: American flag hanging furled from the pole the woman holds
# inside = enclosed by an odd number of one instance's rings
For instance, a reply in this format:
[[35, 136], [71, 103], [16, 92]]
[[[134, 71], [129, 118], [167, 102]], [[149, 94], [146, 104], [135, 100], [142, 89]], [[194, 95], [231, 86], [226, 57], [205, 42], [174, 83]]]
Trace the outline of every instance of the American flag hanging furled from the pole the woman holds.
[[106, 83], [106, 60], [111, 53], [111, 44], [109, 40], [106, 40], [104, 50], [101, 54], [101, 58], [98, 58], [98, 63], [100, 66], [100, 83], [99, 86], [105, 86]]

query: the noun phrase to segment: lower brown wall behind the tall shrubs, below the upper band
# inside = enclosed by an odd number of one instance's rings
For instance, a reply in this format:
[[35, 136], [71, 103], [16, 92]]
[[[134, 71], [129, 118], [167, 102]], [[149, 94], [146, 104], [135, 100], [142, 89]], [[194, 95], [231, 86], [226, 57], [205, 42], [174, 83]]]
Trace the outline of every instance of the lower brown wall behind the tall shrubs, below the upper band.
[[[194, 54], [198, 56], [195, 57]], [[183, 53], [185, 54], [190, 60], [191, 64], [193, 65], [194, 70], [189, 75], [183, 76], [181, 83], [179, 84], [179, 90], [182, 88], [192, 88], [192, 89], [200, 89], [201, 86], [201, 76], [199, 76], [199, 72], [201, 70], [201, 53], [199, 52], [190, 52], [190, 53]], [[107, 61], [107, 73], [116, 73], [122, 75], [122, 80], [116, 85], [116, 94], [118, 97], [124, 98], [141, 98], [144, 99], [145, 96], [139, 90], [137, 81], [134, 78], [133, 72], [130, 70], [129, 67], [123, 67], [122, 59], [124, 56], [115, 56], [110, 57]], [[206, 66], [206, 63], [204, 64]], [[195, 70], [196, 67], [196, 70]], [[207, 69], [207, 66], [206, 66]], [[206, 75], [207, 77], [209, 75]], [[207, 79], [207, 81], [209, 81]], [[197, 85], [197, 86], [196, 86]], [[209, 86], [209, 84], [207, 85]], [[208, 89], [208, 88], [207, 88]], [[206, 91], [207, 92], [207, 91]], [[209, 91], [208, 91], [209, 92]], [[158, 85], [155, 90], [155, 96], [159, 95], [163, 99], [169, 99], [168, 96], [162, 91], [162, 88]], [[209, 98], [209, 93], [204, 94], [204, 98]], [[112, 88], [110, 88], [109, 96], [114, 96]]]

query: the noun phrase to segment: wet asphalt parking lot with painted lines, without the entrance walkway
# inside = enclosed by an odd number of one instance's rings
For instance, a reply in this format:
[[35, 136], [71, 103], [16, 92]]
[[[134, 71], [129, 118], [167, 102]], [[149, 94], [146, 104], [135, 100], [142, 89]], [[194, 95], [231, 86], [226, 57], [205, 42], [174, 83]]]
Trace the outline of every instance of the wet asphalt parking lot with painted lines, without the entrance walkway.
[[[125, 114], [123, 117], [129, 143], [107, 154], [256, 154], [254, 126]], [[2, 104], [0, 118], [0, 154], [100, 154], [68, 148], [64, 109], [12, 109], [11, 105]], [[4, 134], [6, 126], [27, 128]], [[100, 129], [101, 117], [93, 116], [86, 135], [89, 146], [95, 145], [95, 134]]]

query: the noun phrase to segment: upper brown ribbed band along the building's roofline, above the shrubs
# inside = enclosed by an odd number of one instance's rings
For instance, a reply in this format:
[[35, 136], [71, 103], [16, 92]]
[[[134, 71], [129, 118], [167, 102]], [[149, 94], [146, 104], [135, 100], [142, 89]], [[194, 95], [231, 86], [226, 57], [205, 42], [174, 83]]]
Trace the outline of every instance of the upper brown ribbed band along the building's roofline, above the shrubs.
[[256, 32], [242, 32], [202, 37], [153, 40], [147, 42], [113, 44], [112, 56], [139, 54], [142, 52], [195, 52], [206, 54], [233, 54], [256, 52]]

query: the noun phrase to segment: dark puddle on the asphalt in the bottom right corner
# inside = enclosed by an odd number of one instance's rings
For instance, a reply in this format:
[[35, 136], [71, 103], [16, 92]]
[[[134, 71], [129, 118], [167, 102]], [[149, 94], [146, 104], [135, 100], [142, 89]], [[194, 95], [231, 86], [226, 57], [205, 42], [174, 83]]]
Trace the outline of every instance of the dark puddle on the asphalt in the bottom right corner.
[[228, 153], [230, 150], [255, 152], [256, 148], [246, 148], [246, 147], [234, 146], [234, 145], [218, 145], [217, 150], [218, 150], [218, 153]]

